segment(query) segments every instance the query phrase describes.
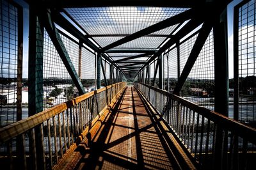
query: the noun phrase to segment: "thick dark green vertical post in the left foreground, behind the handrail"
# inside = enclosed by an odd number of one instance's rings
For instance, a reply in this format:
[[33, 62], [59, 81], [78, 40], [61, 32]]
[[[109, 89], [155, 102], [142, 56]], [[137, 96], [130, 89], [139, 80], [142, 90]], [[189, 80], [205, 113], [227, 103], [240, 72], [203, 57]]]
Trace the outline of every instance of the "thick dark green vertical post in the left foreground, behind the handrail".
[[[43, 54], [44, 54], [44, 27], [36, 13], [36, 6], [29, 7], [29, 116], [43, 111]], [[29, 145], [36, 144], [36, 160], [34, 167], [45, 169], [44, 147], [40, 125], [35, 128], [36, 137], [30, 137]], [[33, 141], [35, 139], [35, 141]]]

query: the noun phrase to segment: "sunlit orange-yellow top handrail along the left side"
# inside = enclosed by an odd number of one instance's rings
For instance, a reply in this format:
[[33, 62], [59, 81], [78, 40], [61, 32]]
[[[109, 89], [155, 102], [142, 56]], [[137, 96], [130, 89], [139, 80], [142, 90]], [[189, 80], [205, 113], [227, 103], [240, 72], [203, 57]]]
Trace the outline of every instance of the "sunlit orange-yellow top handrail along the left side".
[[79, 104], [81, 101], [86, 100], [87, 98], [92, 97], [95, 94], [101, 93], [102, 91], [105, 91], [109, 88], [113, 88], [121, 83], [125, 82], [118, 82], [116, 84], [109, 85], [106, 88], [91, 91], [90, 93], [86, 93], [84, 95], [76, 97], [72, 100], [69, 100], [68, 102], [56, 105], [45, 111], [39, 112], [33, 116], [29, 116], [24, 120], [20, 120], [15, 123], [12, 123], [11, 125], [7, 125], [6, 127], [0, 128], [0, 141], [4, 143], [12, 139], [13, 137], [16, 137], [17, 135], [23, 134], [24, 132], [30, 130], [31, 128], [36, 127], [36, 125], [40, 125], [44, 121], [49, 120], [53, 116], [56, 116], [60, 112], [63, 112], [68, 108], [73, 107], [76, 104]]

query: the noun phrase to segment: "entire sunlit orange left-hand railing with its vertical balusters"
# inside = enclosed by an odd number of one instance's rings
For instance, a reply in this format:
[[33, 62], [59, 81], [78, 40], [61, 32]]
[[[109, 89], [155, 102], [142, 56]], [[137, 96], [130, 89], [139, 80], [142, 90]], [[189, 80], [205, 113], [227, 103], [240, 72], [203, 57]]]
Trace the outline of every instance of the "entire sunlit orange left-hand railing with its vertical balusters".
[[125, 88], [119, 82], [0, 129], [0, 165], [7, 169], [54, 169]]

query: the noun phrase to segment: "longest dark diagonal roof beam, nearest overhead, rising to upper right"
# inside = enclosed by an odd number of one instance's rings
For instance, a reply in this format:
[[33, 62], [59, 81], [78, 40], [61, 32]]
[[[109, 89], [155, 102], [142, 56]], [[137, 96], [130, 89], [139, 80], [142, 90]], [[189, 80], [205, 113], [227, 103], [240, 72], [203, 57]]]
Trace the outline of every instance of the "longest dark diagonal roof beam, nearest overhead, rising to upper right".
[[173, 17], [170, 17], [169, 19], [165, 19], [161, 22], [157, 22], [156, 24], [146, 27], [145, 29], [141, 29], [140, 31], [133, 33], [132, 35], [125, 36], [124, 38], [113, 42], [106, 47], [103, 47], [101, 49], [102, 52], [113, 49], [114, 47], [117, 47], [118, 45], [122, 45], [127, 42], [131, 42], [132, 40], [135, 40], [136, 38], [140, 38], [144, 35], [149, 35], [150, 33], [154, 33], [156, 31], [159, 31], [161, 29], [164, 29], [166, 27], [173, 26], [175, 24], [179, 24], [180, 22], [184, 22], [185, 20], [191, 19], [195, 15], [194, 9], [187, 10], [185, 12], [179, 13], [177, 15], [174, 15]]

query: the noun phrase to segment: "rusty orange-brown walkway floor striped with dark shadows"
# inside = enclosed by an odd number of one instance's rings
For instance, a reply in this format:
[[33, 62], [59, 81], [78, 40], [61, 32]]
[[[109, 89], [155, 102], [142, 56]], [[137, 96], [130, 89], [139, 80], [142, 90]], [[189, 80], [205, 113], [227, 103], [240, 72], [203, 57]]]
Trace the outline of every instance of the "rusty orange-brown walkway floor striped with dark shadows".
[[79, 161], [73, 162], [76, 162], [76, 166], [69, 165], [71, 169], [177, 167], [172, 151], [132, 87], [125, 90]]

